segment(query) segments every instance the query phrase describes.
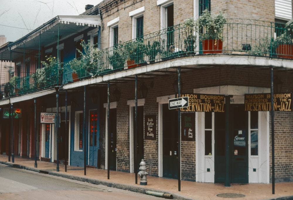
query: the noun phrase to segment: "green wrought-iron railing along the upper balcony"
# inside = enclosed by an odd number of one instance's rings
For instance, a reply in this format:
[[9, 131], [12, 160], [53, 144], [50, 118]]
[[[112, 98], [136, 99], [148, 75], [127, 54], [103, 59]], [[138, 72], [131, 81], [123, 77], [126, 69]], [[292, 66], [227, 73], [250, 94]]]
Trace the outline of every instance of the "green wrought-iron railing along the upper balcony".
[[[38, 84], [35, 74], [22, 77], [16, 87], [2, 84], [2, 97], [32, 93], [37, 90], [50, 88], [87, 79], [103, 74], [113, 73], [132, 67], [149, 65], [168, 59], [201, 55], [204, 53], [226, 53], [256, 55], [265, 57], [290, 57], [293, 48], [278, 49], [283, 40], [276, 40], [276, 36], [286, 34], [283, 26], [277, 27], [273, 22], [246, 19], [229, 19], [223, 29], [222, 49], [218, 49], [219, 42], [199, 41], [199, 33], [193, 32], [182, 25], [176, 25], [160, 30], [140, 38], [116, 44], [114, 47], [93, 51], [91, 55], [83, 55], [74, 59], [44, 69], [47, 81]], [[284, 38], [290, 38], [285, 35]], [[208, 51], [204, 43], [212, 43]], [[291, 38], [287, 43], [292, 44]], [[16, 90], [15, 90], [16, 89]]]

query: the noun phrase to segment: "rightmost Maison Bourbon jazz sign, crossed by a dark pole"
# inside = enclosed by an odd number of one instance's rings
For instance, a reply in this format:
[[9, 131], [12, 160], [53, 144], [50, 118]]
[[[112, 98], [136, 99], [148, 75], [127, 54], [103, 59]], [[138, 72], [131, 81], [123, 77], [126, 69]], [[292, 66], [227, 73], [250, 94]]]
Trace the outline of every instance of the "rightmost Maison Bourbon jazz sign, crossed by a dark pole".
[[[270, 111], [271, 94], [245, 94], [244, 96], [246, 111]], [[292, 111], [292, 94], [274, 94], [274, 111]]]

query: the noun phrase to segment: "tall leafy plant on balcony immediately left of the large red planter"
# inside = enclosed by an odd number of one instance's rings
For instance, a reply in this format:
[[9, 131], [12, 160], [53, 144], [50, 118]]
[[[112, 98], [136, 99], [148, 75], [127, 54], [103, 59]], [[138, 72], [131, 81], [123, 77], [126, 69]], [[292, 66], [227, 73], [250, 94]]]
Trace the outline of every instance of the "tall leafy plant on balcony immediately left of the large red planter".
[[183, 30], [185, 51], [188, 53], [194, 53], [194, 49], [196, 47], [196, 35], [194, 34], [196, 33], [196, 22], [194, 18], [188, 18], [184, 20], [181, 25]]

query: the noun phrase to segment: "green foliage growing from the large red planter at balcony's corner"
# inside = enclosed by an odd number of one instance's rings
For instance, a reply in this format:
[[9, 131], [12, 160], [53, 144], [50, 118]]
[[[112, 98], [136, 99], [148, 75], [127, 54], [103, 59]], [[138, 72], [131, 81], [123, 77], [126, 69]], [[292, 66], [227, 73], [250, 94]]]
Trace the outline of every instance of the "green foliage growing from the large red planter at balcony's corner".
[[225, 23], [227, 22], [222, 12], [212, 17], [206, 9], [197, 19], [198, 27], [203, 30], [200, 34], [200, 40], [204, 39], [222, 39], [222, 33]]

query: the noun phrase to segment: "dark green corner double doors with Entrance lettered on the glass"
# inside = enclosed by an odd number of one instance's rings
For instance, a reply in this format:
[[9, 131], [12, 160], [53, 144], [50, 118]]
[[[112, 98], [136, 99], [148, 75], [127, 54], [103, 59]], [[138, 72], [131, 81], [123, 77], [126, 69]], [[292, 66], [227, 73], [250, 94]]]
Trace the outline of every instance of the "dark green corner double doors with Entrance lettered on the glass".
[[[248, 112], [243, 104], [231, 104], [229, 141], [225, 141], [225, 113], [215, 113], [215, 182], [225, 182], [230, 158], [231, 183], [248, 183]], [[226, 144], [230, 145], [226, 155]]]

